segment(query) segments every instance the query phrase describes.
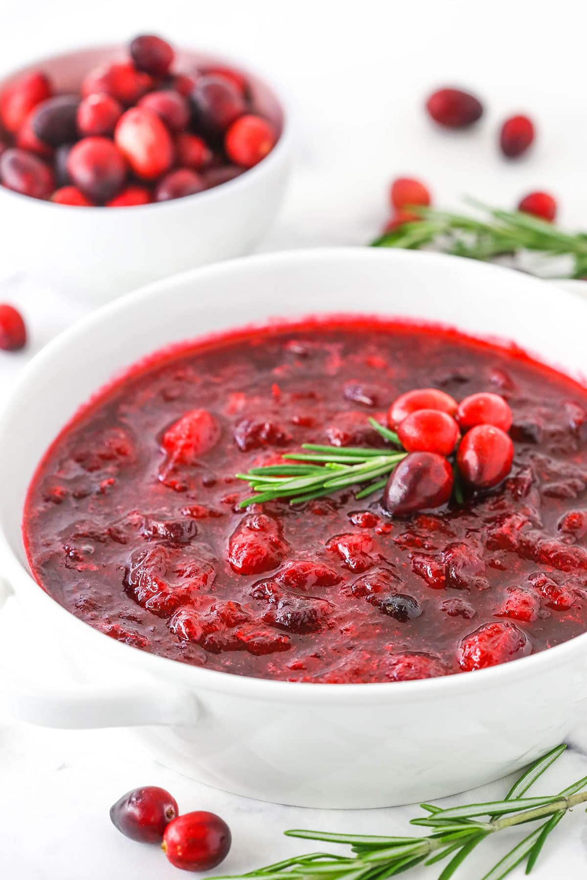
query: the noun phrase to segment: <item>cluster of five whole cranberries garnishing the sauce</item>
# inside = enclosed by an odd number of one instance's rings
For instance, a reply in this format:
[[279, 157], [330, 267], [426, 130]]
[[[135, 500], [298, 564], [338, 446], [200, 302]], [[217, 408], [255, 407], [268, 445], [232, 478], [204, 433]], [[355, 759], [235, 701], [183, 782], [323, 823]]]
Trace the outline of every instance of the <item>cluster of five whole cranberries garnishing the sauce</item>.
[[[408, 455], [387, 480], [385, 509], [401, 516], [441, 507], [451, 498], [455, 471], [470, 488], [497, 486], [514, 457], [511, 419], [506, 401], [491, 392], [460, 403], [436, 388], [402, 394], [387, 422]], [[451, 466], [448, 457], [455, 452]]]

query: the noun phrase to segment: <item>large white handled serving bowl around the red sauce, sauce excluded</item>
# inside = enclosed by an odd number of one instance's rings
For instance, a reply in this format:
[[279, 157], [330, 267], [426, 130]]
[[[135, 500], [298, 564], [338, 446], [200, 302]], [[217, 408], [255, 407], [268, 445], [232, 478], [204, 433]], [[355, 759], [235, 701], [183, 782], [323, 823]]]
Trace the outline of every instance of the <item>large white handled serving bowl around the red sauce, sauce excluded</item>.
[[0, 572], [5, 593], [13, 590], [21, 605], [23, 655], [35, 630], [43, 632], [44, 650], [65, 656], [79, 681], [40, 685], [38, 657], [35, 685], [13, 687], [17, 715], [55, 727], [133, 726], [161, 762], [216, 788], [353, 808], [481, 785], [537, 758], [581, 722], [587, 634], [446, 678], [269, 681], [115, 642], [33, 581], [20, 532], [26, 488], [48, 444], [92, 392], [170, 343], [272, 316], [328, 312], [440, 321], [513, 339], [570, 373], [587, 372], [587, 304], [546, 282], [438, 254], [363, 248], [253, 257], [151, 284], [94, 312], [34, 358], [0, 425]]

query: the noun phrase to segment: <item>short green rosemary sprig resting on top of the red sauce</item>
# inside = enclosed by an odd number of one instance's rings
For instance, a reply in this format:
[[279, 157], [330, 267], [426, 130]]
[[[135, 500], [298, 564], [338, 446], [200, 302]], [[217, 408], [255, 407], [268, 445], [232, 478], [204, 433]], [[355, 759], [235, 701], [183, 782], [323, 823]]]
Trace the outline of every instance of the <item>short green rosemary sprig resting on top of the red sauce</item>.
[[[357, 492], [357, 499], [366, 498], [385, 486], [407, 452], [401, 449], [399, 437], [393, 431], [369, 420], [371, 427], [385, 437], [396, 449], [369, 449], [357, 446], [320, 446], [306, 443], [305, 452], [287, 452], [282, 458], [304, 464], [269, 465], [253, 467], [247, 473], [237, 473], [238, 480], [246, 480], [256, 493], [238, 504], [262, 504], [276, 499], [289, 499], [290, 504], [303, 504], [313, 498], [332, 495], [338, 489], [367, 485]], [[384, 477], [385, 474], [385, 477]]]

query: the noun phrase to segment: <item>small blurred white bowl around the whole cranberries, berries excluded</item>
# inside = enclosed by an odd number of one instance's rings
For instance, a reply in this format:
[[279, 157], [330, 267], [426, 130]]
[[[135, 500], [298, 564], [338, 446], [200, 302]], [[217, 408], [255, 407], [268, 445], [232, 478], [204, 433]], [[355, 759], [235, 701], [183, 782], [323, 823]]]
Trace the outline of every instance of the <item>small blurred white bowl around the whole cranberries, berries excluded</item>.
[[[28, 65], [44, 70], [59, 91], [73, 91], [84, 74], [128, 56], [123, 47], [83, 49]], [[180, 50], [177, 70], [230, 60]], [[172, 202], [134, 208], [71, 208], [40, 202], [0, 187], [4, 259], [72, 297], [103, 302], [141, 284], [184, 269], [249, 253], [268, 230], [284, 193], [290, 130], [282, 100], [246, 72], [254, 106], [274, 122], [280, 137], [259, 165], [219, 187]]]

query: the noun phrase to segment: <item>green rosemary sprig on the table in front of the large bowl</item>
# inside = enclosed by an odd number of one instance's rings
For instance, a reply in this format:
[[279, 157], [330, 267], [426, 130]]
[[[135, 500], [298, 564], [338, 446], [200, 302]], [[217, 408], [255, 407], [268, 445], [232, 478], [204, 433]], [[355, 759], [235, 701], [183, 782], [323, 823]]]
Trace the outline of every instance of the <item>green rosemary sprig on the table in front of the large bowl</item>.
[[[262, 880], [311, 880], [313, 877], [316, 880], [385, 880], [422, 862], [425, 865], [436, 864], [452, 854], [451, 861], [439, 876], [439, 880], [449, 880], [474, 847], [490, 834], [547, 818], [547, 822], [521, 840], [481, 880], [502, 880], [525, 860], [526, 873], [530, 873], [548, 835], [561, 818], [577, 804], [587, 802], [587, 792], [582, 790], [587, 787], [587, 776], [564, 788], [558, 795], [524, 797], [539, 776], [561, 757], [565, 748], [565, 745], [558, 745], [536, 761], [510, 788], [503, 801], [469, 803], [447, 810], [421, 803], [422, 810], [428, 815], [412, 819], [411, 825], [430, 828], [429, 835], [425, 837], [286, 831], [288, 837], [346, 844], [352, 855], [322, 852], [295, 855], [247, 874], [216, 877], [213, 880], [244, 880], [249, 877], [260, 877]], [[485, 821], [481, 821], [483, 817]]]

